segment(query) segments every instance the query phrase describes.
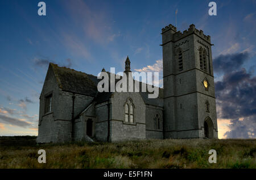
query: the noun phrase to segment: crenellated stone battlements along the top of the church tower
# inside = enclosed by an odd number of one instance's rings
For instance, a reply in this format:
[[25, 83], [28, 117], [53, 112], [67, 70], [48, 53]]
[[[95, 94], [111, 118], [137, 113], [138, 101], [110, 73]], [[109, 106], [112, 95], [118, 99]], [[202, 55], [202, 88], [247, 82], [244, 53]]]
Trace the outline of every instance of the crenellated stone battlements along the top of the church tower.
[[172, 24], [169, 24], [168, 26], [162, 28], [162, 34], [169, 30], [174, 31], [174, 33], [172, 33], [173, 34], [172, 38], [174, 41], [180, 40], [183, 37], [188, 36], [190, 34], [196, 34], [197, 36], [201, 37], [202, 39], [210, 43], [210, 36], [204, 35], [204, 31], [202, 30], [197, 30], [194, 24], [191, 24], [188, 30], [185, 30], [183, 32], [177, 31], [175, 26], [172, 26]]

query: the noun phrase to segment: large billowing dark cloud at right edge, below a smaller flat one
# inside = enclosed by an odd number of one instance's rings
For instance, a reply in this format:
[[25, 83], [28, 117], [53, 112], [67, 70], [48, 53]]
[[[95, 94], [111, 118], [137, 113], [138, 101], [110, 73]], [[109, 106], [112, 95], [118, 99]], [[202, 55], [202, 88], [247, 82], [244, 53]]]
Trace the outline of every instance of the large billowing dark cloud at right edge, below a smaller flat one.
[[217, 106], [224, 119], [256, 115], [256, 77], [245, 69], [226, 73], [215, 83]]

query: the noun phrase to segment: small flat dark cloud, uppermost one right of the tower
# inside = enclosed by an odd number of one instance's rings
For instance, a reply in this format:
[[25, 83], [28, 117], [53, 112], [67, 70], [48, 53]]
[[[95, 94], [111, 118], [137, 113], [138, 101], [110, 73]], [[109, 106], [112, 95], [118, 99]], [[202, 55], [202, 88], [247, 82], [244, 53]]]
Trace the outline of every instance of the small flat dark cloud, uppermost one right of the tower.
[[214, 72], [232, 72], [240, 69], [242, 64], [249, 58], [248, 52], [236, 53], [231, 55], [220, 55], [213, 60]]

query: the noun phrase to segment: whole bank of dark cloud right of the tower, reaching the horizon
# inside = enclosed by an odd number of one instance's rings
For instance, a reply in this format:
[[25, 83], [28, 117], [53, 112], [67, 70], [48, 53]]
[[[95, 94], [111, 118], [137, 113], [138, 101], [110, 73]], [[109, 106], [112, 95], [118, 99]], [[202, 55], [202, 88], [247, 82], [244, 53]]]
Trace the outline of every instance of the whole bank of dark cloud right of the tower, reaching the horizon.
[[225, 133], [228, 138], [256, 137], [256, 77], [252, 70], [241, 68], [248, 57], [248, 53], [237, 53], [214, 60], [214, 71], [224, 73], [214, 85], [218, 118], [231, 119], [230, 131]]

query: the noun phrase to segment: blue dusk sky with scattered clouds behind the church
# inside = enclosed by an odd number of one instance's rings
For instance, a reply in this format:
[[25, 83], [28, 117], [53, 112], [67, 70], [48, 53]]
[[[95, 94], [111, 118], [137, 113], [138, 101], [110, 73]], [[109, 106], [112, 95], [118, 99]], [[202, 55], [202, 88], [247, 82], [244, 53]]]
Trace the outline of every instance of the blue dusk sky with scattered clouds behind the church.
[[[256, 1], [0, 1], [0, 136], [38, 135], [39, 96], [49, 62], [97, 76], [102, 68], [162, 78], [163, 27], [190, 24], [210, 35], [218, 137], [256, 138]], [[160, 79], [161, 82], [161, 79]], [[161, 83], [160, 83], [161, 86]]]

